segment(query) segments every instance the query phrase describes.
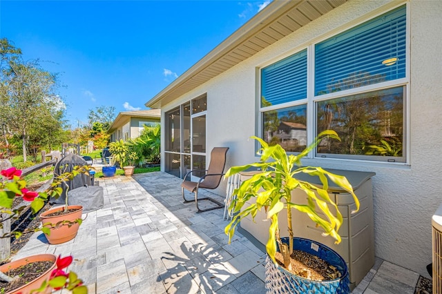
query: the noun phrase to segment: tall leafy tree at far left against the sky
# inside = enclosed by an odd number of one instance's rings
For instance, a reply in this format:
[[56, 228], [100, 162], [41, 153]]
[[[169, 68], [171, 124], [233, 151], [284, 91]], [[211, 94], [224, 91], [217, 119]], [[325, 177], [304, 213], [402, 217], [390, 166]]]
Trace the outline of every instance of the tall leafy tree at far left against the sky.
[[[0, 124], [22, 140], [23, 161], [30, 135], [38, 127], [53, 127], [59, 122], [66, 106], [57, 95], [57, 75], [39, 64], [39, 60], [23, 61], [21, 50], [8, 39], [0, 40]], [[47, 124], [52, 121], [52, 124]], [[53, 129], [52, 129], [53, 130]], [[39, 130], [49, 134], [50, 129]]]

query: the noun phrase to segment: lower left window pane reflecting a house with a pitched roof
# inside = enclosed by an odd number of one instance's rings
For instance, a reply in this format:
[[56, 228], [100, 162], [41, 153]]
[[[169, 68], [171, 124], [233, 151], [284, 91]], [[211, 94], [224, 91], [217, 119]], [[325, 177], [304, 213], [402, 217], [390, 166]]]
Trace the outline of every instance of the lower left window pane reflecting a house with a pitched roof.
[[306, 124], [307, 104], [262, 112], [263, 139], [288, 152], [300, 152], [307, 146]]

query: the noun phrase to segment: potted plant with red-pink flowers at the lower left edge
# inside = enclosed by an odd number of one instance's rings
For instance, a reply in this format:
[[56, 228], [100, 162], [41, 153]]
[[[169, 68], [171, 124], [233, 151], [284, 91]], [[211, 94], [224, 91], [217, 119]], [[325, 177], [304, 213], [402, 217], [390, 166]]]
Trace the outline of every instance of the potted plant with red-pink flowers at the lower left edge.
[[[37, 213], [48, 199], [48, 193], [28, 190], [26, 181], [20, 177], [21, 170], [15, 167], [1, 170], [0, 174], [0, 211], [3, 213], [0, 229], [3, 229], [6, 220], [19, 217], [20, 209], [12, 208], [15, 197], [31, 202], [32, 212]], [[53, 192], [59, 193], [59, 189]], [[21, 233], [12, 231], [0, 237], [10, 238], [12, 235], [18, 238]], [[76, 294], [87, 293], [86, 286], [82, 286], [83, 282], [75, 273], [64, 271], [72, 261], [72, 256], [61, 258], [52, 254], [39, 254], [3, 264], [0, 266], [0, 293], [51, 293], [52, 288], [67, 288]]]

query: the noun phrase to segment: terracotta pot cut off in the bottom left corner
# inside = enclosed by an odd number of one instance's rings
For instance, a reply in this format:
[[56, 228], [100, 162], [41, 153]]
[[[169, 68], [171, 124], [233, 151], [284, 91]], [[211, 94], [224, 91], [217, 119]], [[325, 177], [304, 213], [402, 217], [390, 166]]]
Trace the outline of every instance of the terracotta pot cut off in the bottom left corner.
[[[15, 262], [9, 262], [8, 264], [3, 264], [3, 266], [0, 266], [0, 271], [3, 273], [8, 273], [8, 271], [19, 268], [20, 266], [23, 266], [25, 264], [29, 264], [31, 262], [46, 262], [50, 261], [53, 262], [52, 266], [48, 269], [48, 271], [42, 273], [39, 277], [36, 277], [34, 280], [29, 282], [26, 285], [23, 285], [19, 288], [16, 288], [13, 291], [9, 291], [6, 294], [13, 294], [13, 293], [22, 293], [22, 294], [29, 294], [30, 291], [40, 288], [41, 284], [46, 280], [49, 280], [50, 273], [54, 270], [57, 261], [57, 256], [53, 254], [39, 254], [39, 255], [31, 255], [29, 257], [17, 259]], [[48, 287], [46, 288], [46, 291], [43, 293], [48, 294], [52, 292], [52, 288]]]

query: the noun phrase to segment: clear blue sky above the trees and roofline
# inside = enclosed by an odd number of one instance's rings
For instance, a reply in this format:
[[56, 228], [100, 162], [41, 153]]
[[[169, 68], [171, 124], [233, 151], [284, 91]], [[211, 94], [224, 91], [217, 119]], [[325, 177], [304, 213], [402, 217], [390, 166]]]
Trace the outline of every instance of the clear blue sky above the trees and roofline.
[[268, 2], [1, 0], [0, 37], [60, 74], [76, 127], [98, 106], [146, 109]]

